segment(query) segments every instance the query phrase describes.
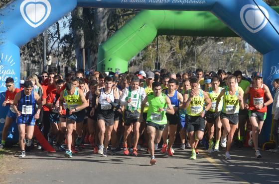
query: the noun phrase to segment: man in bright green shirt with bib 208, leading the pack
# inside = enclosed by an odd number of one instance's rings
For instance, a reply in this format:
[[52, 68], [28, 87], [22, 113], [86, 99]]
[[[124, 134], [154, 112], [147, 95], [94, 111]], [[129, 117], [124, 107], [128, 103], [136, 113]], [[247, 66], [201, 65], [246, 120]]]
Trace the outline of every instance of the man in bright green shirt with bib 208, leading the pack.
[[[147, 72], [148, 73], [148, 72]], [[166, 120], [166, 113], [174, 115], [174, 110], [170, 99], [166, 94], [162, 93], [161, 84], [159, 82], [152, 83], [153, 93], [149, 93], [141, 103], [139, 122], [142, 122], [143, 109], [146, 103], [149, 104], [147, 111], [147, 134], [148, 145], [150, 148], [150, 164], [156, 164], [154, 156], [154, 140], [158, 143], [161, 140]]]

